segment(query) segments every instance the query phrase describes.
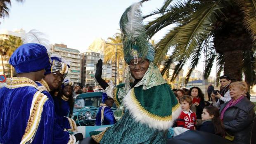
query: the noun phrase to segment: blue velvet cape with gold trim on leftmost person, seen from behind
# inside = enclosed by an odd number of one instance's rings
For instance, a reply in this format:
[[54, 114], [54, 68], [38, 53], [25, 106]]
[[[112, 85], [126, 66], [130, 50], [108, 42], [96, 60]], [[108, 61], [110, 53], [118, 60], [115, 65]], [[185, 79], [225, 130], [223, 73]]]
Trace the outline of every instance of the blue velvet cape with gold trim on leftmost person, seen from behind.
[[[0, 143], [19, 144], [24, 135], [33, 137], [25, 130], [28, 128], [31, 106], [38, 105], [38, 103], [32, 102], [33, 97], [40, 97], [41, 100], [36, 99], [36, 102], [44, 100], [34, 110], [39, 111], [41, 116], [36, 119], [36, 116], [33, 115], [34, 122], [32, 124], [39, 124], [31, 144], [52, 144], [54, 104], [36, 89], [37, 86], [33, 80], [28, 78], [11, 79], [9, 82], [7, 79], [7, 85], [0, 89]], [[30, 126], [32, 127], [32, 125]]]

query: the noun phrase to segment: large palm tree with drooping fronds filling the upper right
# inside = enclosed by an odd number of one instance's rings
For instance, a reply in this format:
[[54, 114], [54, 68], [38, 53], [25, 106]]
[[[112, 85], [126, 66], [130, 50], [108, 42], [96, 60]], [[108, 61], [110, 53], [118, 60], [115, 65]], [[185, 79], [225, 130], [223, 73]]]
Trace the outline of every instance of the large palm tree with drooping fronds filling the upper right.
[[[143, 0], [147, 1], [147, 0]], [[168, 50], [172, 54], [165, 61], [161, 73], [176, 62], [171, 80], [175, 80], [184, 64], [190, 62], [185, 83], [197, 66], [201, 53], [206, 53], [204, 78], [211, 73], [217, 59], [217, 80], [224, 69], [226, 75], [247, 83], [255, 78], [256, 0], [165, 0], [164, 5], [151, 14], [160, 15], [147, 26], [147, 34], [154, 34], [166, 26], [174, 26], [156, 44], [154, 63], [160, 63]]]

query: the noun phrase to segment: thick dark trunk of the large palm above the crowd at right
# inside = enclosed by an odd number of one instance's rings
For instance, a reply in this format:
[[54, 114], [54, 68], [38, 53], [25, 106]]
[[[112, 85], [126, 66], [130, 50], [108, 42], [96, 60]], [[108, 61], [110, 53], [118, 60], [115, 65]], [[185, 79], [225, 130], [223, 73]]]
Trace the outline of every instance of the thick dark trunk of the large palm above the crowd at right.
[[223, 54], [224, 73], [235, 80], [242, 79], [243, 52], [251, 50], [253, 40], [243, 25], [239, 9], [227, 9], [215, 26], [213, 43], [216, 52]]

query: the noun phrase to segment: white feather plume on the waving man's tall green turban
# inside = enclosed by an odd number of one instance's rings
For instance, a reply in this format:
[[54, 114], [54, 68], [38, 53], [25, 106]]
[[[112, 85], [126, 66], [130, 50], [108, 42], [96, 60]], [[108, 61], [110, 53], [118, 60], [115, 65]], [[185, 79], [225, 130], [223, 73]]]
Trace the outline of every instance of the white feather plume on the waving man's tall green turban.
[[140, 11], [141, 2], [132, 5], [130, 11], [127, 12], [128, 23], [125, 26], [126, 36], [136, 38], [145, 32], [145, 25]]

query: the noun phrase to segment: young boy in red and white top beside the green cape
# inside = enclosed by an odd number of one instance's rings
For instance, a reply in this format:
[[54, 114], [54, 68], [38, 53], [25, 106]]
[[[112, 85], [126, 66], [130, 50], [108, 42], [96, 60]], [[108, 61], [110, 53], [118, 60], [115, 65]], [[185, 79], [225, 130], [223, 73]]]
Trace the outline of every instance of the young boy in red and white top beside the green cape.
[[195, 130], [194, 125], [196, 124], [197, 118], [196, 114], [190, 110], [190, 107], [192, 106], [192, 98], [190, 96], [180, 98], [180, 105], [182, 112], [177, 119], [177, 126]]

